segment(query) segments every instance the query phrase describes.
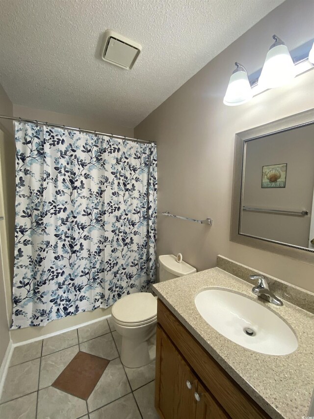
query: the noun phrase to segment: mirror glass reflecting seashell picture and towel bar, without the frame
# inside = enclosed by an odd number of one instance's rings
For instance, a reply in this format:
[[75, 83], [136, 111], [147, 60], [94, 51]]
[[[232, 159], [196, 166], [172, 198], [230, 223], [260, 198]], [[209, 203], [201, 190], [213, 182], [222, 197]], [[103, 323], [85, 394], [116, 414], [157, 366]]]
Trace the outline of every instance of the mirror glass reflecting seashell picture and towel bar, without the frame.
[[243, 147], [239, 234], [314, 251], [314, 123]]

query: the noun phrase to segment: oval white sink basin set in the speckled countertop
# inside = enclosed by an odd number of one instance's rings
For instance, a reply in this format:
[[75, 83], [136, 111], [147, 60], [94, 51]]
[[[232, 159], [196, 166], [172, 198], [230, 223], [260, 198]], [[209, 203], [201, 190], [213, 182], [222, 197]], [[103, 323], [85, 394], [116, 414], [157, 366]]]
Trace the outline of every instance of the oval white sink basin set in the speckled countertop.
[[197, 294], [195, 306], [211, 327], [244, 348], [288, 355], [298, 347], [296, 335], [284, 320], [242, 294], [207, 289]]

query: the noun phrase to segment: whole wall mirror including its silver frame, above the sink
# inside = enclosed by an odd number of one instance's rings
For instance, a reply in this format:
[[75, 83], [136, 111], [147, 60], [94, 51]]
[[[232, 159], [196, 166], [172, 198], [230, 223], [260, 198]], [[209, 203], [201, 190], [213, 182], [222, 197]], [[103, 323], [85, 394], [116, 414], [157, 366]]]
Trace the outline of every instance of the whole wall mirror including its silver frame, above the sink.
[[230, 239], [314, 263], [314, 110], [235, 135]]

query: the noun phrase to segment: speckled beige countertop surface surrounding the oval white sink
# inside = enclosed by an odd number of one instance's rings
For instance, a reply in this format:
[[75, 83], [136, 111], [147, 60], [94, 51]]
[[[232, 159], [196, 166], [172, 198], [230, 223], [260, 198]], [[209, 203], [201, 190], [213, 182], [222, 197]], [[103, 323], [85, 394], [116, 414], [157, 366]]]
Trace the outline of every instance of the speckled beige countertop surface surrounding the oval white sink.
[[[264, 355], [220, 335], [194, 304], [196, 294], [209, 287], [234, 290], [277, 313], [297, 335], [297, 350], [284, 356]], [[220, 268], [159, 282], [153, 285], [153, 290], [268, 415], [274, 419], [307, 416], [314, 389], [314, 314], [286, 301], [282, 307], [277, 307], [258, 300], [251, 284]]]

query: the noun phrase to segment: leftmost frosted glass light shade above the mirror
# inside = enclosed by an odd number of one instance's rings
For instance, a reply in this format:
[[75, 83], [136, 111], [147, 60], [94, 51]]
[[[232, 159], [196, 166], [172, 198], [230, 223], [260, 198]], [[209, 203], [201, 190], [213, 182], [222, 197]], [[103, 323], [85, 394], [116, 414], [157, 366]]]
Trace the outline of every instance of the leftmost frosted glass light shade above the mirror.
[[253, 93], [246, 71], [239, 70], [233, 73], [224, 97], [224, 104], [228, 106], [242, 105], [252, 97]]

